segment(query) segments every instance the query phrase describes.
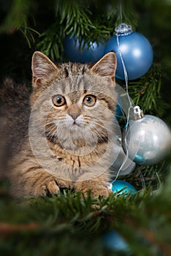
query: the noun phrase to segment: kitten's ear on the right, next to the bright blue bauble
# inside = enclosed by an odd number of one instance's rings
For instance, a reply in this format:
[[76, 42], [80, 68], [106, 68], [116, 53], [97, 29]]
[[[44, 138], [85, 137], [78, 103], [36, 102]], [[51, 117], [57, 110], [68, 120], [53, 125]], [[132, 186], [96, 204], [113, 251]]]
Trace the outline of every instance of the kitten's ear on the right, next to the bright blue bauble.
[[115, 53], [110, 52], [97, 61], [91, 70], [99, 76], [114, 79], [116, 66], [117, 60]]

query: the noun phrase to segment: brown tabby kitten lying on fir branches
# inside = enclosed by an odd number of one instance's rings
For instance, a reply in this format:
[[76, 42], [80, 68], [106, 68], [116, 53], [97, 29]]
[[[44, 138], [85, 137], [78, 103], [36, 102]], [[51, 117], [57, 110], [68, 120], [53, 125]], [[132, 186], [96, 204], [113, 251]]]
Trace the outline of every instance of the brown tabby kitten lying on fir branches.
[[30, 116], [28, 128], [21, 126], [26, 132], [18, 134], [18, 150], [12, 149], [8, 163], [13, 195], [56, 195], [64, 188], [109, 195], [115, 68], [115, 53], [93, 67], [56, 66], [43, 53], [34, 53], [30, 100], [25, 109], [21, 99], [18, 113], [21, 124]]

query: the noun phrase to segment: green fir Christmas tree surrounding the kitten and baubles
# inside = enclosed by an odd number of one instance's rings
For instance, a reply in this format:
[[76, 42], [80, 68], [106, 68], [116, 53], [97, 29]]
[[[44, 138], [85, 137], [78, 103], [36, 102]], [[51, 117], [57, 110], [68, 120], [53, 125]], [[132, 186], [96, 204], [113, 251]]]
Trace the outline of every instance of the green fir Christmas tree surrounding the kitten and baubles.
[[[151, 69], [128, 82], [129, 96], [145, 115], [170, 126], [169, 0], [2, 0], [0, 13], [1, 81], [11, 77], [28, 86], [34, 50], [68, 61], [67, 35], [77, 36], [81, 51], [92, 42], [105, 45], [120, 23], [131, 25], [151, 42], [154, 56]], [[116, 82], [126, 89], [126, 80]], [[125, 126], [124, 116], [119, 124]], [[8, 181], [1, 180], [1, 255], [171, 255], [170, 159], [168, 152], [157, 164], [137, 165], [121, 176], [137, 188], [133, 195], [94, 198], [64, 191], [14, 200]]]

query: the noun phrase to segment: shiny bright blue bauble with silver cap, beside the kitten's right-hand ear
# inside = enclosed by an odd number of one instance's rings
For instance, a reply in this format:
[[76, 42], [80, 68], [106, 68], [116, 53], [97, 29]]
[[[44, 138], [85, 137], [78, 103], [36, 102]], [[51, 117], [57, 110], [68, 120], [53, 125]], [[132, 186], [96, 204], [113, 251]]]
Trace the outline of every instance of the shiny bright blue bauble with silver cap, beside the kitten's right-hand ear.
[[148, 39], [132, 31], [132, 26], [125, 23], [115, 29], [115, 35], [106, 43], [104, 54], [110, 51], [114, 51], [117, 57], [115, 77], [122, 80], [125, 80], [123, 63], [128, 79], [134, 80], [145, 75], [153, 62], [153, 49]]

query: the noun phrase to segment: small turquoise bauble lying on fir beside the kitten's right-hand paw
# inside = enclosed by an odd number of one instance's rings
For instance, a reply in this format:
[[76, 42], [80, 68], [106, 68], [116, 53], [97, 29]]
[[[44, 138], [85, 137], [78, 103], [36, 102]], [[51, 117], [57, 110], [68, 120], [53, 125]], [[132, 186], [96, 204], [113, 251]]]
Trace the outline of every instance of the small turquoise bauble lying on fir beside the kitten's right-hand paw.
[[[116, 180], [114, 181], [112, 184], [112, 186], [109, 187], [114, 193], [118, 192], [118, 195], [121, 195], [122, 193], [131, 193], [134, 194], [135, 192], [137, 192], [137, 189], [135, 189], [134, 186], [132, 186], [132, 184], [129, 184], [129, 182], [126, 181], [120, 181], [120, 180]], [[120, 190], [122, 190], [120, 192]]]

